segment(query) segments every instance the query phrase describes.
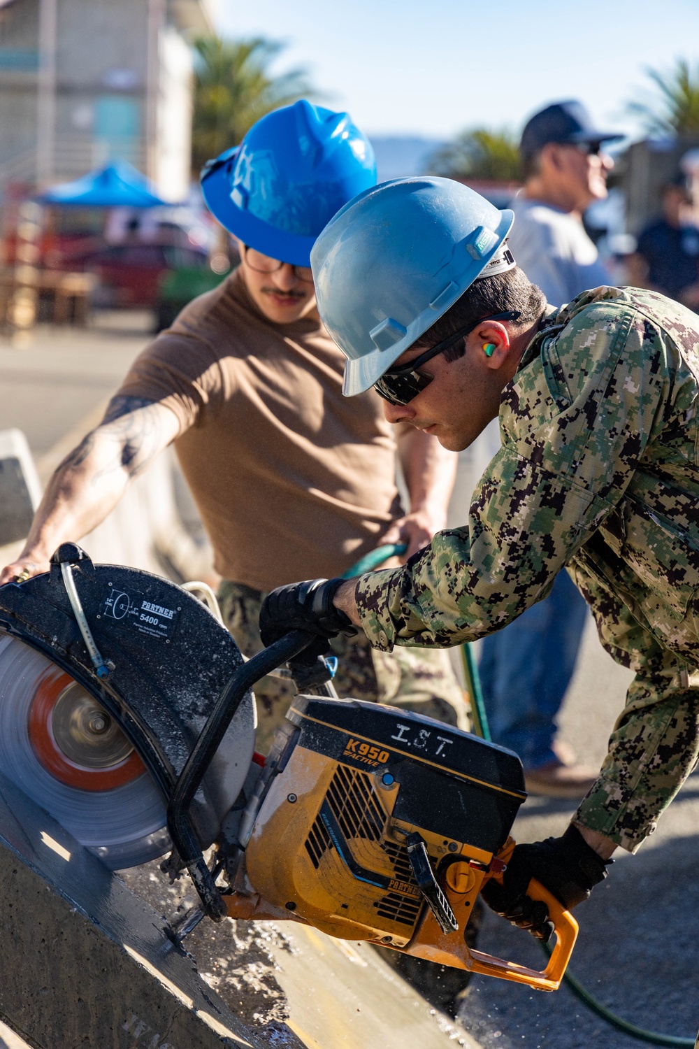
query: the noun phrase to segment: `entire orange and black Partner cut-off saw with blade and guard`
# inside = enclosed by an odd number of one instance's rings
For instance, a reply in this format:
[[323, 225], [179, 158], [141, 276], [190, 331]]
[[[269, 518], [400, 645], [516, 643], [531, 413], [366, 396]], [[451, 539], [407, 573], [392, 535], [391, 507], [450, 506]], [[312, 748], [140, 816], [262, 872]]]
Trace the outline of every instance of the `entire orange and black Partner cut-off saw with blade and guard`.
[[201, 905], [177, 942], [202, 916], [290, 920], [554, 990], [577, 924], [539, 883], [556, 936], [544, 971], [464, 940], [515, 845], [516, 754], [337, 699], [324, 660], [292, 664], [306, 694], [255, 752], [250, 688], [311, 640], [244, 661], [190, 593], [65, 543], [49, 573], [0, 587], [0, 771], [110, 869], [168, 854], [163, 873], [189, 872]]

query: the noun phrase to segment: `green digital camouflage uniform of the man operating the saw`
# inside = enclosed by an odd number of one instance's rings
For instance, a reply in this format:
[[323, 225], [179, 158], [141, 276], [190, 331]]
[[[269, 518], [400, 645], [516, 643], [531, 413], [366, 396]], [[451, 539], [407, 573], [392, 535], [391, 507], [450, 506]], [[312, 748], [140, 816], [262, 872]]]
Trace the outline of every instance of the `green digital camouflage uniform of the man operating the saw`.
[[599, 287], [551, 309], [503, 392], [468, 522], [364, 576], [372, 644], [447, 646], [511, 622], [567, 565], [636, 671], [576, 818], [634, 852], [699, 754], [699, 318]]

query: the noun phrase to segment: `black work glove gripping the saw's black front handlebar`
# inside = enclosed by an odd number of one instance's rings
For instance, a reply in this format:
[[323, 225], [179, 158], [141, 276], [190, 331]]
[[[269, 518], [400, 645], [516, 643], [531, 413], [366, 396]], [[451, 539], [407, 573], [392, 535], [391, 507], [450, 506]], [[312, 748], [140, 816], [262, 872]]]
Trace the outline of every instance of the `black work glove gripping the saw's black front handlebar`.
[[345, 579], [306, 579], [301, 583], [278, 586], [262, 602], [260, 634], [265, 645], [279, 641], [289, 630], [314, 634], [319, 641], [305, 656], [323, 656], [328, 640], [338, 634], [356, 634], [349, 616], [335, 608], [332, 599]]

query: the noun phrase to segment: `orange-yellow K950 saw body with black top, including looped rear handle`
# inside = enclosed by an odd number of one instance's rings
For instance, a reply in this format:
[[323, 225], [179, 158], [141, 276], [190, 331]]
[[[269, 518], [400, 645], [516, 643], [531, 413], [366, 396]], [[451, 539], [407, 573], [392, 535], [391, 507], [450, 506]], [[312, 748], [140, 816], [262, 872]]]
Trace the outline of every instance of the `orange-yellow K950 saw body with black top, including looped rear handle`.
[[[502, 876], [515, 844], [509, 829], [526, 797], [519, 757], [378, 704], [300, 695], [287, 718], [241, 816], [227, 914], [302, 921], [555, 989], [577, 924], [536, 882], [530, 895], [546, 900], [556, 932], [546, 970], [471, 950], [464, 939], [476, 897]], [[419, 883], [420, 854], [432, 885]]]

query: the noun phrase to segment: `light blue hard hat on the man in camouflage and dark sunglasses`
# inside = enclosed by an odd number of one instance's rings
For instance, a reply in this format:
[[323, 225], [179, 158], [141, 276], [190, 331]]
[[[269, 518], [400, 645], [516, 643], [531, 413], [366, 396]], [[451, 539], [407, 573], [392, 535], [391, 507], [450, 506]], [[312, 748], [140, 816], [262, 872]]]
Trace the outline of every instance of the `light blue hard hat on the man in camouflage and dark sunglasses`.
[[363, 393], [480, 277], [509, 270], [514, 221], [451, 178], [366, 190], [311, 252], [319, 313], [347, 357], [343, 393]]

